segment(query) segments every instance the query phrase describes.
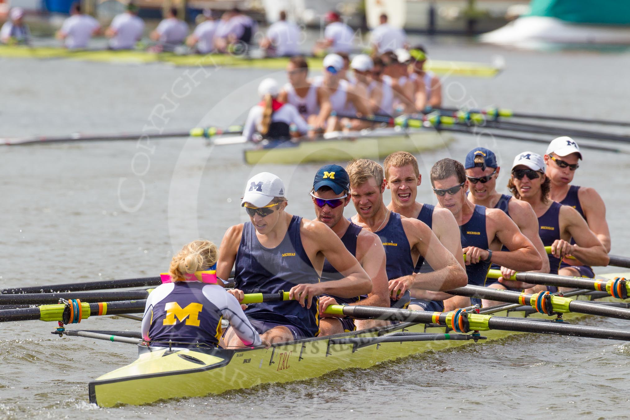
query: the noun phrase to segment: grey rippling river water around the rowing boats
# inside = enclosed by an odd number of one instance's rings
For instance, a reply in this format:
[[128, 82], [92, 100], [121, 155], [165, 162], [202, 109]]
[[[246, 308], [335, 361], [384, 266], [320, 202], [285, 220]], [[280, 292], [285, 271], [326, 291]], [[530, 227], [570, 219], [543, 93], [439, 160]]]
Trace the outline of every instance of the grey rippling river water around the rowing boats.
[[[629, 54], [520, 52], [447, 39], [427, 43], [435, 59], [490, 62], [500, 55], [507, 65], [494, 79], [449, 77], [445, 105], [627, 118]], [[238, 145], [150, 139], [157, 130], [242, 123], [257, 101], [258, 82], [270, 74], [284, 77], [253, 69], [0, 60], [1, 137], [149, 136], [139, 142], [0, 150], [0, 287], [157, 275], [186, 242], [203, 237], [218, 243], [229, 225], [246, 220], [239, 198], [246, 179], [260, 171], [285, 180], [289, 212], [312, 217], [306, 194], [318, 165], [250, 167], [244, 166]], [[435, 202], [427, 186], [433, 162], [462, 160], [476, 145], [495, 150], [504, 167], [519, 152], [545, 150], [527, 142], [458, 136], [448, 149], [418, 156], [426, 180], [421, 200]], [[584, 157], [575, 183], [600, 192], [612, 253], [627, 254], [630, 164], [621, 154], [585, 152]], [[507, 183], [507, 173], [499, 184]], [[627, 328], [622, 321], [582, 322]], [[134, 346], [60, 339], [50, 334], [54, 327], [38, 321], [0, 326], [1, 418], [610, 419], [628, 413], [630, 345], [553, 336], [517, 336], [219, 396], [101, 409], [88, 403], [88, 381], [134, 360]], [[95, 317], [81, 327], [137, 330], [139, 323]]]

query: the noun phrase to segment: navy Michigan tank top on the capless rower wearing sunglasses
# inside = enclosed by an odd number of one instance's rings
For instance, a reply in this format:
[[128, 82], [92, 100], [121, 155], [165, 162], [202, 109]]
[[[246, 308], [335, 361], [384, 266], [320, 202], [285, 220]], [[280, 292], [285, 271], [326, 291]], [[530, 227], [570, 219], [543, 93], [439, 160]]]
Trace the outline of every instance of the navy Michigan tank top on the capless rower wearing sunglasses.
[[[486, 232], [486, 208], [475, 205], [473, 216], [459, 227], [459, 232], [462, 239], [462, 248], [476, 246], [481, 249], [488, 249], [490, 244], [488, 244], [488, 232]], [[484, 263], [483, 261], [467, 265], [468, 284], [484, 286], [488, 270], [490, 270], [490, 263]]]

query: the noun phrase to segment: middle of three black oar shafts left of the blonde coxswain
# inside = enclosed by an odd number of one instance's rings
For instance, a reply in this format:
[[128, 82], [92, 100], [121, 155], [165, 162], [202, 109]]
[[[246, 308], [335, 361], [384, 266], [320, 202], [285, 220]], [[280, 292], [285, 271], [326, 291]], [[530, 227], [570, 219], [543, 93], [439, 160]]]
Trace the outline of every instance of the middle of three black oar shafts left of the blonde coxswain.
[[83, 302], [108, 302], [113, 300], [146, 299], [146, 290], [128, 290], [126, 292], [60, 292], [60, 293], [22, 293], [0, 295], [0, 305], [43, 305], [57, 304], [60, 298], [81, 299]]

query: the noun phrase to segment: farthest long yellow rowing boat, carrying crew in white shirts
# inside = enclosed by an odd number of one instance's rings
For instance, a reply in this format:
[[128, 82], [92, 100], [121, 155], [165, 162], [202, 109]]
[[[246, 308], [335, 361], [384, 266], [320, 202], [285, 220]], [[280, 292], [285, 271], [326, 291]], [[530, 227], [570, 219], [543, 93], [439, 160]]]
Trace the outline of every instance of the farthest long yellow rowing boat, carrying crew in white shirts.
[[[184, 67], [257, 67], [261, 69], [284, 69], [289, 62], [287, 57], [249, 58], [240, 55], [207, 54], [179, 55], [173, 52], [149, 52], [144, 50], [67, 50], [61, 47], [26, 47], [23, 45], [0, 45], [0, 57], [29, 59], [69, 59], [91, 62], [108, 62], [118, 64], [147, 64], [166, 62]], [[322, 68], [322, 59], [307, 59], [312, 69]], [[488, 64], [428, 60], [426, 67], [436, 74], [452, 74], [453, 76], [494, 77], [501, 71], [500, 67]]]

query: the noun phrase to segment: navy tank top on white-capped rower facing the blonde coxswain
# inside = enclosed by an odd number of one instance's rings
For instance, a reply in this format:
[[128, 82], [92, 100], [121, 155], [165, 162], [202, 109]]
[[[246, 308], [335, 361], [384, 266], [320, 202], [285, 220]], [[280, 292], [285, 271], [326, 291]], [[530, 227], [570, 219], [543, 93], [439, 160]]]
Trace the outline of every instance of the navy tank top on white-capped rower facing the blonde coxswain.
[[[300, 235], [302, 218], [293, 216], [282, 242], [275, 248], [266, 248], [256, 237], [251, 222], [243, 225], [234, 264], [235, 287], [245, 293], [289, 292], [302, 283], [318, 283], [318, 273], [313, 268]], [[290, 324], [314, 336], [319, 331], [318, 305], [314, 300], [311, 309], [301, 307], [296, 300], [261, 302], [251, 304], [245, 310], [249, 319]]]

